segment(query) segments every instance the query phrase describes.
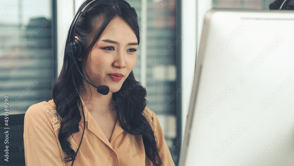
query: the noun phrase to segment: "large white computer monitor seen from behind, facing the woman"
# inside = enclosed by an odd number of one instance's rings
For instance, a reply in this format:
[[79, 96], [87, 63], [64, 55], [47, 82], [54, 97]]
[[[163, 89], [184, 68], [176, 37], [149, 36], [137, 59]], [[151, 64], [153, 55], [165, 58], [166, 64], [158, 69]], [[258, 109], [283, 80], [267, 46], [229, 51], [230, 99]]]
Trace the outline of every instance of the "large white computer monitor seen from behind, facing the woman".
[[294, 165], [293, 11], [206, 15], [179, 166]]

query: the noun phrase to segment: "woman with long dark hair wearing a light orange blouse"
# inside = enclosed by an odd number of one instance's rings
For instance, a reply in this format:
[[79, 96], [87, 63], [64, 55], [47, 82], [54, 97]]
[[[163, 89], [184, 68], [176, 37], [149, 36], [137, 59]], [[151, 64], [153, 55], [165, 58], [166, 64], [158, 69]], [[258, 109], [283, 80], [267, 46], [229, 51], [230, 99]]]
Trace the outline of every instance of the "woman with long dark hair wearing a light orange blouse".
[[79, 70], [109, 93], [87, 83], [65, 49], [53, 99], [26, 112], [26, 165], [174, 165], [161, 125], [146, 107], [146, 90], [132, 72], [140, 41], [135, 9], [124, 0], [93, 1], [78, 20], [75, 39], [83, 48]]

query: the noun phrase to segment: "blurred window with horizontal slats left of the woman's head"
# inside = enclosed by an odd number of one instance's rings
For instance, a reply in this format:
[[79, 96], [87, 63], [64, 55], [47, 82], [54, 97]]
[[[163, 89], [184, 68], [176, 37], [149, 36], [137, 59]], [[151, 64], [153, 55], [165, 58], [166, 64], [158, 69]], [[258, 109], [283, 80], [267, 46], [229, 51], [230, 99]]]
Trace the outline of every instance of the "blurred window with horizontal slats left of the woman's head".
[[0, 1], [0, 105], [9, 96], [9, 114], [25, 113], [29, 106], [51, 98], [55, 73], [51, 3]]

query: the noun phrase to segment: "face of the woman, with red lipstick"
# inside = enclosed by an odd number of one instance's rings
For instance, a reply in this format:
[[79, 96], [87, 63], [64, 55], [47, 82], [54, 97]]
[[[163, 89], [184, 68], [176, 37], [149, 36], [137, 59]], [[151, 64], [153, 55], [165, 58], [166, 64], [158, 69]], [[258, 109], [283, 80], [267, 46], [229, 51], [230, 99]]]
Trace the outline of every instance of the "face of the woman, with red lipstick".
[[120, 17], [111, 20], [86, 60], [86, 75], [94, 85], [117, 92], [137, 61], [138, 40]]

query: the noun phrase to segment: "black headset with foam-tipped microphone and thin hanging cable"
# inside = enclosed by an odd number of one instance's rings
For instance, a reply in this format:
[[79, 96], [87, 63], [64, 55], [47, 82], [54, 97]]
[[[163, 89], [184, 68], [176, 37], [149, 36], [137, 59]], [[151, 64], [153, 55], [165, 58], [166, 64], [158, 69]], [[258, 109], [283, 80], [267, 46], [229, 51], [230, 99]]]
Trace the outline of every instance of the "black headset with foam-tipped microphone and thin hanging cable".
[[[105, 86], [105, 85], [99, 85], [98, 87], [93, 85], [90, 81], [88, 81], [85, 76], [81, 73], [81, 71], [78, 68], [78, 65], [76, 64], [76, 59], [78, 59], [81, 56], [81, 53], [83, 52], [83, 46], [81, 44], [81, 42], [79, 40], [75, 39], [75, 33], [76, 33], [76, 26], [78, 24], [78, 20], [80, 19], [81, 15], [83, 14], [83, 11], [86, 9], [86, 7], [91, 4], [92, 2], [94, 2], [96, 0], [93, 0], [91, 2], [89, 2], [76, 16], [76, 18], [74, 19], [74, 23], [71, 26], [71, 31], [69, 34], [69, 41], [66, 43], [65, 46], [65, 51], [66, 53], [69, 55], [69, 59], [70, 59], [70, 65], [72, 67], [71, 64], [71, 59], [73, 60], [74, 64], [76, 65], [76, 68], [78, 69], [79, 73], [83, 76], [83, 78], [90, 83], [92, 86], [94, 86], [95, 88], [97, 88], [97, 92], [101, 93], [103, 95], [107, 95], [109, 93], [109, 87]], [[71, 75], [73, 78], [73, 82], [74, 82], [74, 75], [71, 69]], [[74, 82], [74, 86], [76, 88], [76, 83]], [[84, 129], [83, 129], [83, 134], [82, 134], [82, 138], [81, 138], [81, 142], [78, 146], [78, 149], [76, 150], [76, 154], [74, 156], [74, 160], [71, 163], [71, 166], [74, 164], [74, 161], [76, 160], [76, 155], [78, 153], [78, 150], [80, 149], [82, 140], [83, 140], [83, 136], [84, 136], [84, 132], [85, 132], [85, 126], [86, 126], [86, 119], [85, 119], [85, 114], [84, 114], [84, 109], [83, 109], [83, 105], [82, 105], [82, 101], [81, 101], [81, 97], [80, 97], [80, 93], [78, 91], [78, 89], [76, 88], [76, 91], [78, 93], [79, 96], [79, 101], [80, 101], [80, 106], [82, 107], [82, 112], [83, 112], [83, 118], [84, 118]]]

